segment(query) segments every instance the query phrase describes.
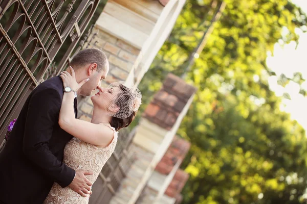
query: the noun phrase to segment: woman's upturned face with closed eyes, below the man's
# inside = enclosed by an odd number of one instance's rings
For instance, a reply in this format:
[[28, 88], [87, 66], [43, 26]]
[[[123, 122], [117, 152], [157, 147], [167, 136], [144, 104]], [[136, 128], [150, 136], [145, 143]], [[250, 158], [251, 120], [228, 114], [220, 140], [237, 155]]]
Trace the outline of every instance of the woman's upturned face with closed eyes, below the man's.
[[99, 108], [109, 109], [115, 105], [118, 94], [121, 92], [119, 87], [100, 88], [100, 90], [91, 97], [94, 106]]

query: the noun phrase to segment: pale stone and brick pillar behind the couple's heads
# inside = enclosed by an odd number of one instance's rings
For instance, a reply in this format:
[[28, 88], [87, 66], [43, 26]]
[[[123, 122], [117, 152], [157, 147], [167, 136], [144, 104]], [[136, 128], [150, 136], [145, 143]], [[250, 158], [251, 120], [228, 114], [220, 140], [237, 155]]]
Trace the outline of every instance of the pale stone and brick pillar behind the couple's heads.
[[[89, 36], [91, 40], [84, 45], [101, 49], [108, 57], [110, 71], [103, 87], [118, 81], [139, 84], [185, 1], [169, 0], [163, 7], [158, 1], [108, 0]], [[79, 103], [80, 119], [91, 120], [91, 109], [90, 99]]]

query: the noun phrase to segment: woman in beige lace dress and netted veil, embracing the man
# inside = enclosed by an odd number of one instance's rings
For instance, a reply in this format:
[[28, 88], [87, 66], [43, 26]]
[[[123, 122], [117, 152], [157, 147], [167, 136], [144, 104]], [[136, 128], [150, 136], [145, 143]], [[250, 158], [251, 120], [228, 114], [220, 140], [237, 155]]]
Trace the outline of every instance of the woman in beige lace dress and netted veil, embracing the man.
[[[94, 105], [91, 122], [75, 118], [74, 97], [81, 83], [76, 82], [75, 72], [63, 71], [60, 77], [63, 86], [73, 91], [64, 92], [59, 114], [60, 127], [73, 135], [64, 149], [63, 162], [74, 170], [92, 171], [86, 178], [94, 183], [106, 161], [111, 157], [116, 143], [117, 131], [127, 127], [135, 118], [141, 105], [142, 94], [137, 88], [128, 88], [123, 82], [100, 88], [91, 97]], [[83, 197], [85, 196], [85, 197]], [[62, 188], [54, 183], [44, 203], [89, 203], [89, 196], [81, 196], [69, 187]]]

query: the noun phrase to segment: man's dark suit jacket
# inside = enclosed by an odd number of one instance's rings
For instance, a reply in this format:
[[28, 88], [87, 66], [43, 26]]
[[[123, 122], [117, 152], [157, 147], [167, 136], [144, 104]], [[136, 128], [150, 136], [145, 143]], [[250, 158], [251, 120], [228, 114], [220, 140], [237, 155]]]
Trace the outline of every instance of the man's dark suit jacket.
[[[59, 76], [37, 86], [0, 153], [0, 203], [41, 204], [54, 182], [68, 186], [75, 171], [62, 163], [72, 135], [58, 124], [63, 97]], [[75, 99], [77, 115], [77, 100]]]

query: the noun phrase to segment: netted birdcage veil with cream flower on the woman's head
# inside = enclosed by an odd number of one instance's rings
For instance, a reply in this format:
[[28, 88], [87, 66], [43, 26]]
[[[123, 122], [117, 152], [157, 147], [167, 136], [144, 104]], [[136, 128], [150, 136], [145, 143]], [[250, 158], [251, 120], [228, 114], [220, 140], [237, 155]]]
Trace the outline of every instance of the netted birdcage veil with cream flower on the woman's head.
[[[137, 111], [142, 104], [142, 94], [140, 90], [134, 85], [129, 87], [124, 84], [124, 82], [115, 82], [110, 84], [107, 89], [110, 88], [119, 88], [119, 92], [115, 94], [113, 98], [105, 98], [107, 100], [107, 105], [105, 110], [108, 115], [111, 115], [116, 118], [127, 118], [133, 112]], [[112, 112], [109, 107], [116, 105], [119, 110]]]

